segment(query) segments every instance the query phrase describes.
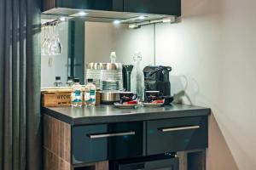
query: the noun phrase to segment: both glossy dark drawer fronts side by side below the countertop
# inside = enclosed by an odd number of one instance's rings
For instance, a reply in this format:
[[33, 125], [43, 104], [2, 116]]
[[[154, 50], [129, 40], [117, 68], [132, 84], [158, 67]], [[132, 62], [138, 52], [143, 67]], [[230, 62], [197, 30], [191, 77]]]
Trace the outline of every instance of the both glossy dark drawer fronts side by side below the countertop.
[[72, 127], [73, 164], [155, 156], [207, 146], [207, 116]]

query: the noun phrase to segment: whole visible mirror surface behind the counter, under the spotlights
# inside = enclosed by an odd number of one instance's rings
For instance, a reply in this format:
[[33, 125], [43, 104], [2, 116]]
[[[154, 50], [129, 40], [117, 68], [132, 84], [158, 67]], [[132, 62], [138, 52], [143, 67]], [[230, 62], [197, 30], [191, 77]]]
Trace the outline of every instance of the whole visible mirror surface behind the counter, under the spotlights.
[[[116, 62], [122, 65], [134, 65], [136, 52], [142, 54], [142, 68], [154, 65], [153, 25], [129, 29], [123, 24], [67, 20], [55, 29], [60, 37], [62, 53], [42, 55], [42, 88], [53, 87], [55, 77], [61, 77], [62, 86], [66, 85], [67, 77], [79, 77], [84, 84], [86, 65], [109, 63], [111, 52], [115, 52]], [[45, 31], [47, 28], [42, 28], [42, 42]]]

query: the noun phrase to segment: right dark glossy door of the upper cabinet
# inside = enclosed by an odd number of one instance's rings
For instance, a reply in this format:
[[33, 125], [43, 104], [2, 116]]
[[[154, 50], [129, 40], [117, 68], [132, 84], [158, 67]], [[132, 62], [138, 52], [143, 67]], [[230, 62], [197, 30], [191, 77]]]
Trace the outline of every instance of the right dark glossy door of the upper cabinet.
[[181, 15], [181, 0], [124, 0], [124, 11]]

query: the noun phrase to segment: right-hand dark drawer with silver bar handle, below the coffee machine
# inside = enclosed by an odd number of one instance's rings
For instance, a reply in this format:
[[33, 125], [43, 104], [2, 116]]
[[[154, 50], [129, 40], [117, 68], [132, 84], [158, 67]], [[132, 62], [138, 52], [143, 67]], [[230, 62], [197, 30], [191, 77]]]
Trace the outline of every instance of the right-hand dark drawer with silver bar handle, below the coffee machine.
[[207, 148], [207, 116], [147, 122], [147, 154]]

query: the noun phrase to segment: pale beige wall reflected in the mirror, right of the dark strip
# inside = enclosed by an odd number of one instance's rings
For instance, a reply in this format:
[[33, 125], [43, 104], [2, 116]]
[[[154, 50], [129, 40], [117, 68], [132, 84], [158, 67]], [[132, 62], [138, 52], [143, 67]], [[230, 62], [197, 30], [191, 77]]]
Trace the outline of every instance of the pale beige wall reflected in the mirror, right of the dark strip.
[[133, 56], [141, 52], [142, 67], [154, 65], [154, 26], [129, 29], [127, 25], [112, 23], [85, 23], [85, 63], [110, 62], [111, 52], [117, 55], [117, 62], [133, 65]]

